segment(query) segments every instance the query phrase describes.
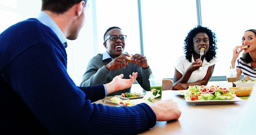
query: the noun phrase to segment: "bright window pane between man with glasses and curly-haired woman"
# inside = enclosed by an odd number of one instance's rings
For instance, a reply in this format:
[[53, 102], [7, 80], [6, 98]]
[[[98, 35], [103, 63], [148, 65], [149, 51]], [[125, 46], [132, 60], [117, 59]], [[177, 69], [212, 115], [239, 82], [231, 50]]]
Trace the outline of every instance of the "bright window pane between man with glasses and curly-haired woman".
[[196, 1], [153, 1], [142, 3], [143, 44], [155, 76], [173, 78], [173, 65], [184, 55], [184, 39], [197, 25]]

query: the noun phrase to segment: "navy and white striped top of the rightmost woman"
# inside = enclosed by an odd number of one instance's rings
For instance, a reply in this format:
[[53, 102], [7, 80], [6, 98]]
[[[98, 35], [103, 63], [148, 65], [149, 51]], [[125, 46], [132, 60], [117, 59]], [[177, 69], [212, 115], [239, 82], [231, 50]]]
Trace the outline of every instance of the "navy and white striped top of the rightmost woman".
[[252, 68], [251, 63], [246, 63], [241, 59], [237, 60], [237, 68], [242, 71], [244, 76], [249, 76], [251, 79], [256, 79], [256, 69]]

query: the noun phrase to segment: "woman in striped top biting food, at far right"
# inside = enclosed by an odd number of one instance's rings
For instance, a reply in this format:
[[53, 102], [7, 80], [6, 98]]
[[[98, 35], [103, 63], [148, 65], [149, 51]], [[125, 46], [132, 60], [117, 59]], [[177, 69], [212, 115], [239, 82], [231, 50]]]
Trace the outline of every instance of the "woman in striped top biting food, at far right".
[[[239, 51], [240, 50], [240, 51]], [[237, 60], [239, 54], [244, 53]], [[250, 29], [243, 33], [242, 45], [236, 46], [233, 50], [233, 58], [231, 60], [232, 68], [234, 68], [237, 60], [237, 81], [241, 74], [247, 80], [256, 80], [256, 30]]]

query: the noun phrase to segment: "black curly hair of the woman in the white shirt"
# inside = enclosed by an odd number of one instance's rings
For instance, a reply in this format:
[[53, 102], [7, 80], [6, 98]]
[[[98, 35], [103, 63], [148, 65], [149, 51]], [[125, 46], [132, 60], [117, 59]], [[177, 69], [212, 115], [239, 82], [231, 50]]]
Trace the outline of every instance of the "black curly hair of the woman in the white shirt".
[[194, 43], [193, 43], [193, 38], [198, 34], [198, 33], [206, 33], [206, 35], [209, 37], [209, 50], [205, 54], [205, 59], [207, 62], [210, 62], [214, 57], [216, 57], [216, 49], [217, 49], [217, 38], [216, 34], [212, 32], [209, 28], [207, 27], [202, 27], [200, 25], [196, 26], [192, 30], [188, 32], [188, 36], [184, 40], [184, 53], [186, 55], [186, 59], [188, 59], [189, 62], [192, 62], [192, 54], [194, 53]]

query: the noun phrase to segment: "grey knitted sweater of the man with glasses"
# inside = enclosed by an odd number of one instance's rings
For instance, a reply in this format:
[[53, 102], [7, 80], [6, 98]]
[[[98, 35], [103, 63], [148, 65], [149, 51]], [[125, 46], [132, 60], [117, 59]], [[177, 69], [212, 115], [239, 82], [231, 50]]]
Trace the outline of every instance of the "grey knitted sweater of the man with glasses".
[[[148, 69], [142, 69], [141, 66], [138, 66], [134, 63], [128, 63], [128, 66], [125, 66], [125, 69], [121, 68], [109, 71], [106, 69], [105, 65], [110, 63], [111, 59], [105, 59], [102, 61], [103, 54], [97, 54], [89, 62], [86, 68], [86, 72], [83, 75], [81, 87], [93, 86], [98, 84], [110, 83], [113, 78], [117, 75], [124, 74], [123, 79], [130, 79], [129, 75], [132, 75], [133, 72], [138, 72], [136, 81], [141, 85], [146, 91], [150, 91], [150, 83], [148, 78], [152, 73], [150, 67]], [[113, 92], [108, 96], [121, 95], [125, 92], [131, 92], [131, 87], [123, 89], [120, 91]]]

